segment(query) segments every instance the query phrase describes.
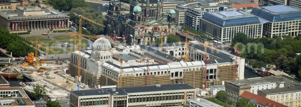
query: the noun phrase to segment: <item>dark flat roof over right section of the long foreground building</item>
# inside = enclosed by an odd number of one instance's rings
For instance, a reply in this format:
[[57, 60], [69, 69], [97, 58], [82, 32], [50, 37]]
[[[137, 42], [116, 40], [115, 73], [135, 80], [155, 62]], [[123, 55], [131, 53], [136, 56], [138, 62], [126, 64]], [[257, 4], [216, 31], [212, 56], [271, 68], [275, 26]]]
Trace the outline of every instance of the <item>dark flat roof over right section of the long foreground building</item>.
[[125, 91], [126, 93], [142, 93], [142, 92], [154, 92], [154, 91], [174, 91], [174, 90], [188, 90], [195, 89], [188, 84], [169, 84], [169, 85], [161, 85], [160, 87], [156, 87], [156, 85], [149, 86], [137, 86], [137, 87], [126, 87], [119, 88], [120, 90]]

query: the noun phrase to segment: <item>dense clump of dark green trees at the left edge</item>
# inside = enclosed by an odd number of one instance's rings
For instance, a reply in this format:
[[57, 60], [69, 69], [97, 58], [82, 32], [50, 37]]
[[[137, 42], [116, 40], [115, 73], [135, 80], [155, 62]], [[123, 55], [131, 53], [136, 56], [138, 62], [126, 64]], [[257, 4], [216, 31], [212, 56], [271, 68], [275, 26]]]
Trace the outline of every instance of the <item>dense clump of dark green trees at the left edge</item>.
[[22, 37], [17, 34], [10, 34], [7, 29], [0, 28], [0, 47], [12, 52], [14, 57], [26, 56], [35, 49], [23, 42]]

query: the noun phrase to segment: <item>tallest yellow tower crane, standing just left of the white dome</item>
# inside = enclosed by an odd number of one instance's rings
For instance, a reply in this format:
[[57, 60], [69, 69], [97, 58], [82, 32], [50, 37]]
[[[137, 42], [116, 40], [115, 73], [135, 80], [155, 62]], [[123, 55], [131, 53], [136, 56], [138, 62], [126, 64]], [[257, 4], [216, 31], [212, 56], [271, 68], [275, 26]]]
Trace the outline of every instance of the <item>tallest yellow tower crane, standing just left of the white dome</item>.
[[[87, 18], [87, 17], [85, 17], [85, 16], [82, 16], [82, 15], [79, 15], [79, 29], [78, 29], [78, 39], [79, 39], [79, 45], [78, 45], [78, 59], [77, 59], [77, 81], [79, 82], [79, 77], [80, 77], [80, 68], [81, 68], [81, 49], [82, 49], [82, 19], [85, 19], [85, 20], [87, 20], [87, 21], [89, 21], [89, 22], [92, 22], [92, 23], [94, 23], [94, 24], [97, 24], [97, 25], [100, 25], [100, 26], [102, 26], [102, 27], [106, 27], [105, 25], [103, 25], [103, 24], [100, 24], [100, 23], [98, 23], [98, 22], [95, 22], [95, 21], [93, 21], [93, 20], [91, 20], [91, 19], [89, 19], [89, 18]], [[77, 34], [76, 35], [74, 35], [74, 38], [75, 38], [75, 40], [76, 40], [76, 36], [77, 36]], [[74, 43], [74, 48], [76, 48], [76, 42]]]

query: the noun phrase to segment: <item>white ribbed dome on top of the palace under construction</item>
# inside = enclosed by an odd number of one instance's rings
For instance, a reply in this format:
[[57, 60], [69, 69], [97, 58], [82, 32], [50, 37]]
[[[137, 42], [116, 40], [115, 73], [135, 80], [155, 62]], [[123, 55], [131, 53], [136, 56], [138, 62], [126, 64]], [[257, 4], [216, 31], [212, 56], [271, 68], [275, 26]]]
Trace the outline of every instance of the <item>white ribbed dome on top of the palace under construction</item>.
[[102, 49], [102, 47], [105, 47], [107, 49], [112, 48], [109, 40], [107, 40], [104, 37], [101, 37], [101, 38], [95, 40], [95, 42], [93, 43], [93, 49]]

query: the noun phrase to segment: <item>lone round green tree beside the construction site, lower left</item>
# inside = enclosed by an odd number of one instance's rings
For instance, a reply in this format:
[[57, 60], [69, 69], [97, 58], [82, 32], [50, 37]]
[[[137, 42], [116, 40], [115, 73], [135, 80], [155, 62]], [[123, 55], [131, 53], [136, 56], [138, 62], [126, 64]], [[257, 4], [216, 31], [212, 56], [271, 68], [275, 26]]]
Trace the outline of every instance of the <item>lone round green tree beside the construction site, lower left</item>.
[[45, 90], [45, 87], [46, 85], [33, 85], [33, 93], [31, 93], [31, 97], [35, 98], [36, 100], [47, 97], [47, 91]]

